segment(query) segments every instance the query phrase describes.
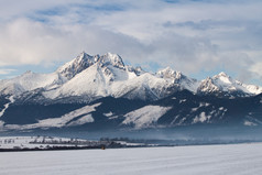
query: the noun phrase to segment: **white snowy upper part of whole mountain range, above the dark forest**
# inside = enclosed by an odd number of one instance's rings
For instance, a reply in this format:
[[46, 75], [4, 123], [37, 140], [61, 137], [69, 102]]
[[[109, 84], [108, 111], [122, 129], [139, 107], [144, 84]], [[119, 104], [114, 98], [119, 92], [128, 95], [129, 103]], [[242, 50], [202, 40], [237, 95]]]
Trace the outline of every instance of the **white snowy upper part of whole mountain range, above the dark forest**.
[[111, 53], [90, 56], [83, 52], [52, 74], [26, 72], [0, 81], [1, 95], [20, 97], [24, 92], [37, 91], [46, 100], [81, 97], [83, 100], [92, 101], [108, 96], [157, 100], [183, 89], [194, 94], [226, 96], [262, 92], [261, 87], [242, 84], [225, 73], [200, 81], [170, 67], [155, 74], [146, 73], [141, 67], [124, 65], [119, 55]]

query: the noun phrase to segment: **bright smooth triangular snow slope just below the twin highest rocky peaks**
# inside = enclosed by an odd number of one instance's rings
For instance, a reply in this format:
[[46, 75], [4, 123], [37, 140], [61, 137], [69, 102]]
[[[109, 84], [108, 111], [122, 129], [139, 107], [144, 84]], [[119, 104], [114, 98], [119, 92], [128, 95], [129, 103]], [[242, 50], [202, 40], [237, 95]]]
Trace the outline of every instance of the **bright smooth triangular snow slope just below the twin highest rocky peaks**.
[[101, 66], [100, 63], [95, 63], [59, 88], [45, 91], [44, 96], [53, 99], [83, 95], [94, 99], [113, 96], [113, 91], [118, 91], [119, 86], [132, 77], [137, 77], [137, 75], [127, 69], [119, 69], [111, 65], [106, 67]]

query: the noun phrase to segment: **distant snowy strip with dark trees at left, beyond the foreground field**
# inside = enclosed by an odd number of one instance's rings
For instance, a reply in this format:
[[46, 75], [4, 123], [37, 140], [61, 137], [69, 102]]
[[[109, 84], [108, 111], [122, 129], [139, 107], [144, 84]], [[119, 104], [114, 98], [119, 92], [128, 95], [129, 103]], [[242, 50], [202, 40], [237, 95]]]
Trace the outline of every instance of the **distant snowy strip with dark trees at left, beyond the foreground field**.
[[123, 147], [122, 143], [100, 140], [65, 139], [53, 136], [11, 136], [0, 138], [0, 152], [4, 151], [44, 151]]

